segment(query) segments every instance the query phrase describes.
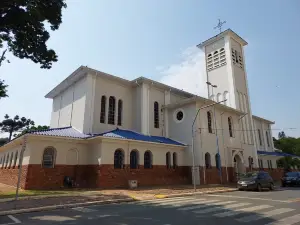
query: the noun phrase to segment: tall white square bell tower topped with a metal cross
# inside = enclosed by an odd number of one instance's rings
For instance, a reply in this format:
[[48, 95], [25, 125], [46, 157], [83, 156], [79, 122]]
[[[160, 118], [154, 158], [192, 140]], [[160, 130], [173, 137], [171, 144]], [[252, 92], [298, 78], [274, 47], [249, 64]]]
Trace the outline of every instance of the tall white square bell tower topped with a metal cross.
[[227, 99], [223, 104], [245, 113], [240, 123], [242, 143], [255, 147], [244, 56], [248, 43], [231, 29], [221, 32], [221, 26], [219, 21], [220, 33], [197, 45], [205, 54], [208, 98]]

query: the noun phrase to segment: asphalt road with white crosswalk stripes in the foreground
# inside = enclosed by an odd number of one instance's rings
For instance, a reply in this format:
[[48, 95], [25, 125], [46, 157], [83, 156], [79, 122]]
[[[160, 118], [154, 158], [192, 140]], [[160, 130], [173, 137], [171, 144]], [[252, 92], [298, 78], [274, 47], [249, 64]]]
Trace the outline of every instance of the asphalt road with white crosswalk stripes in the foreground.
[[230, 192], [0, 217], [0, 225], [300, 225], [300, 188]]

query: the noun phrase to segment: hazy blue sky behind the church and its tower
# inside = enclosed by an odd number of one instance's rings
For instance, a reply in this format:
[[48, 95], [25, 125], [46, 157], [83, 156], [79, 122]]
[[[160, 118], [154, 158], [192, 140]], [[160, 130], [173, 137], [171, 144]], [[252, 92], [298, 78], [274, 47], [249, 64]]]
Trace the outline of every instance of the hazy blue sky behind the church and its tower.
[[[255, 115], [276, 121], [277, 129], [300, 136], [299, 1], [69, 0], [63, 23], [49, 46], [59, 61], [51, 70], [8, 55], [0, 78], [8, 113], [48, 125], [52, 101], [44, 95], [80, 65], [127, 79], [145, 76], [205, 95], [203, 55], [195, 46], [217, 34], [226, 20], [249, 44], [246, 69]], [[297, 128], [297, 129], [286, 129]]]

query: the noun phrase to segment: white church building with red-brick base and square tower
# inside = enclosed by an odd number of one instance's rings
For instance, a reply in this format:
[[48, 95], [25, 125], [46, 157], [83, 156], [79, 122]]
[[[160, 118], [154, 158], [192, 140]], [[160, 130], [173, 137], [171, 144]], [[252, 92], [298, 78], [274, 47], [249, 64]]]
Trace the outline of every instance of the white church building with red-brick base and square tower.
[[198, 45], [208, 98], [79, 67], [46, 95], [51, 129], [0, 147], [0, 182], [16, 185], [20, 167], [24, 189], [60, 188], [66, 176], [91, 188], [228, 183], [258, 169], [278, 179], [284, 154], [274, 122], [252, 114], [245, 45], [230, 29]]

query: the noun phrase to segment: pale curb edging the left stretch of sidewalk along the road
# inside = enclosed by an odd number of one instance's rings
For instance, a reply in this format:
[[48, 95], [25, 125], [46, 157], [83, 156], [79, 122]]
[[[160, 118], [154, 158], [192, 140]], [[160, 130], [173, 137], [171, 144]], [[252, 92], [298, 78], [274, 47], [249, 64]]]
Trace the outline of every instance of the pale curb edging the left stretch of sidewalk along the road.
[[69, 204], [64, 204], [64, 205], [50, 205], [50, 206], [26, 208], [26, 209], [13, 209], [13, 210], [9, 210], [9, 211], [0, 212], [0, 216], [21, 214], [21, 213], [30, 213], [30, 212], [42, 212], [42, 211], [49, 211], [49, 210], [55, 210], [55, 209], [74, 208], [74, 207], [79, 207], [79, 206], [105, 205], [105, 204], [133, 202], [133, 201], [135, 201], [135, 199], [126, 198], [126, 199], [103, 200], [103, 201], [92, 201], [92, 202], [81, 202], [81, 203], [69, 203]]

